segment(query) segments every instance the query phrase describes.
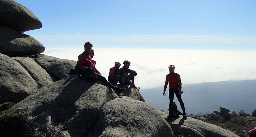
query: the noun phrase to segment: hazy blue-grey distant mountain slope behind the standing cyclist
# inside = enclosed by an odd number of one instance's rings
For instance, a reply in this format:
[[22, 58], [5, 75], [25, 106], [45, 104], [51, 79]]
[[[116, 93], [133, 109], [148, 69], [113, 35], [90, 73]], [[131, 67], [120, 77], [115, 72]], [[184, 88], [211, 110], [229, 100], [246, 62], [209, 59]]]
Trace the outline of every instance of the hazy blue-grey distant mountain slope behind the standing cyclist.
[[[165, 97], [163, 88], [141, 89], [140, 93], [146, 103], [157, 110], [168, 112], [169, 88], [166, 90]], [[187, 84], [182, 85], [182, 91], [184, 91], [182, 100], [187, 114], [212, 113], [215, 110], [220, 110], [219, 106], [224, 106], [236, 113], [244, 110], [250, 115], [256, 109], [256, 80]], [[174, 102], [176, 102], [178, 110], [182, 111], [176, 96], [174, 96]]]

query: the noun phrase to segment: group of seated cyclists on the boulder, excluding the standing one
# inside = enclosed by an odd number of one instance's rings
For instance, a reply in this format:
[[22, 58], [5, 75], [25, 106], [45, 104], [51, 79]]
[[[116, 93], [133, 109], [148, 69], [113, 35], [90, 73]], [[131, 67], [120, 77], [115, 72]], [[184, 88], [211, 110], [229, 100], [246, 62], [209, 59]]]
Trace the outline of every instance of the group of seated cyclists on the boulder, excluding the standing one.
[[[84, 44], [84, 52], [78, 56], [78, 68], [80, 76], [85, 77], [88, 81], [101, 80], [104, 84], [113, 88], [117, 93], [122, 93], [126, 88], [119, 88], [113, 84], [130, 85], [133, 88], [137, 88], [134, 84], [134, 76], [137, 75], [136, 71], [130, 70], [130, 62], [124, 61], [124, 66], [120, 68], [121, 64], [115, 62], [115, 67], [110, 68], [108, 80], [100, 74], [96, 69], [96, 61], [92, 60], [94, 56], [93, 45], [90, 42]], [[120, 68], [120, 70], [119, 70]], [[137, 88], [138, 89], [138, 88]]]

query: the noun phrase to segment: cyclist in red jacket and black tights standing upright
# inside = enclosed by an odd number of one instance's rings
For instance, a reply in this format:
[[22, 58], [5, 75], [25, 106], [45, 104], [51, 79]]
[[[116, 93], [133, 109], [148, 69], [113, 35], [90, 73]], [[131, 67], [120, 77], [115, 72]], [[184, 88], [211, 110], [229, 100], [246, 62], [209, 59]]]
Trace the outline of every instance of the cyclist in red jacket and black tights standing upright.
[[166, 75], [163, 95], [164, 96], [166, 95], [165, 91], [166, 91], [167, 85], [169, 83], [169, 88], [170, 88], [169, 89], [169, 99], [170, 99], [169, 109], [170, 109], [170, 105], [173, 102], [173, 98], [174, 98], [174, 94], [175, 94], [178, 101], [180, 102], [180, 106], [181, 106], [182, 111], [183, 111], [183, 116], [186, 117], [185, 106], [184, 106], [184, 103], [181, 99], [181, 94], [183, 92], [181, 91], [180, 75], [178, 73], [174, 72], [174, 69], [175, 69], [174, 65], [170, 65], [168, 68], [169, 68], [170, 73]]

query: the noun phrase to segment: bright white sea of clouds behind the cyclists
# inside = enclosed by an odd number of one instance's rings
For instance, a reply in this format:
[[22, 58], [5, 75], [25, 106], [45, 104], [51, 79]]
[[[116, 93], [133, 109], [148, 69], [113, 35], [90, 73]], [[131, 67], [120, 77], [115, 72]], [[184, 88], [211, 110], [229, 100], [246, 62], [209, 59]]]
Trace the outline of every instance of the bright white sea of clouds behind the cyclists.
[[[168, 66], [175, 65], [182, 84], [256, 79], [256, 51], [210, 51], [173, 49], [94, 49], [96, 68], [108, 77], [114, 62], [130, 61], [136, 70], [134, 83], [142, 89], [163, 87]], [[82, 48], [47, 48], [45, 55], [77, 61]], [[122, 66], [121, 66], [122, 67]]]

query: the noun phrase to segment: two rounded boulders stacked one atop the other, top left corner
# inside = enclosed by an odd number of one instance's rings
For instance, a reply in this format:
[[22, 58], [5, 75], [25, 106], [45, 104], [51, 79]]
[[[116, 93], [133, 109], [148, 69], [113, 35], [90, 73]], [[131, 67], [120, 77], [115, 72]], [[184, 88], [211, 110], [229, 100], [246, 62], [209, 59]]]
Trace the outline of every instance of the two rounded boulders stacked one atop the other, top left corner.
[[23, 32], [42, 27], [40, 20], [14, 0], [0, 0], [0, 53], [9, 57], [37, 55], [45, 47]]

